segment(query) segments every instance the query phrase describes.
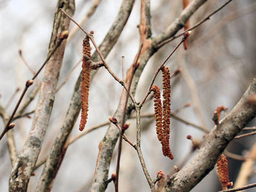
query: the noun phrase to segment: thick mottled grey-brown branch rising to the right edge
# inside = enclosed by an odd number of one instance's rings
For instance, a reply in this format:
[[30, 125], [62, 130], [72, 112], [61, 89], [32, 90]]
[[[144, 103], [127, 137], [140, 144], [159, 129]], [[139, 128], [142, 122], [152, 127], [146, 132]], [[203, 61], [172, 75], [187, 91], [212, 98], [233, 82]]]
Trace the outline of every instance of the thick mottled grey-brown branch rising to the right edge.
[[255, 94], [256, 77], [237, 105], [207, 135], [192, 161], [167, 180], [166, 191], [190, 191], [213, 169], [228, 143], [255, 117], [256, 102], [250, 101]]

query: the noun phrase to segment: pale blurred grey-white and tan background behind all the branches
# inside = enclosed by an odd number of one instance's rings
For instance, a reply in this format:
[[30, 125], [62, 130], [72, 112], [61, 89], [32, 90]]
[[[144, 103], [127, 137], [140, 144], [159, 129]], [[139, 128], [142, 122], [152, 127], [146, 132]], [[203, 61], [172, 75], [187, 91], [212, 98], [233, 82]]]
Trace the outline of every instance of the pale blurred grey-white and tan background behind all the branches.
[[[216, 0], [206, 2], [191, 17], [190, 26], [195, 25], [195, 23], [206, 17], [206, 15], [217, 9], [224, 2]], [[33, 76], [32, 72], [37, 71], [46, 58], [56, 4], [57, 0], [0, 1], [0, 23], [2, 25], [0, 30], [0, 102], [8, 114], [12, 113], [27, 79]], [[89, 11], [92, 4], [93, 0], [76, 1], [74, 19], [80, 21]], [[121, 1], [102, 1], [92, 17], [83, 24], [85, 30], [94, 30], [94, 39], [98, 44], [107, 34], [120, 5]], [[173, 54], [166, 66], [170, 68], [171, 73], [178, 68], [181, 68], [182, 73], [172, 78], [172, 112], [181, 109], [177, 113], [179, 117], [198, 126], [203, 126], [207, 130], [211, 130], [214, 126], [212, 121], [214, 110], [218, 106], [223, 105], [230, 111], [235, 106], [256, 74], [255, 11], [255, 1], [234, 0], [220, 12], [214, 14], [210, 20], [193, 30], [187, 51], [183, 49], [183, 46], [180, 46]], [[165, 30], [181, 12], [181, 1], [151, 1], [153, 36]], [[139, 46], [139, 30], [137, 25], [139, 21], [140, 1], [135, 1], [131, 16], [117, 44], [107, 57], [107, 62], [111, 69], [119, 77], [122, 77], [122, 55], [125, 57], [126, 70], [137, 53]], [[70, 29], [72, 28], [74, 28], [73, 23], [70, 25]], [[64, 55], [59, 85], [65, 81], [70, 71], [81, 59], [84, 36], [82, 31], [78, 31], [70, 39]], [[139, 81], [135, 95], [137, 101], [141, 100], [143, 95], [145, 95], [156, 67], [165, 60], [173, 47], [180, 41], [180, 38], [166, 44], [151, 57]], [[31, 70], [22, 61], [19, 50], [22, 51], [22, 56]], [[60, 129], [67, 112], [80, 71], [81, 65], [78, 65], [68, 81], [55, 95], [50, 125], [46, 132], [44, 145], [38, 161], [49, 154], [55, 135], [58, 129]], [[41, 80], [42, 74], [39, 75], [36, 83]], [[162, 87], [161, 76], [159, 74], [155, 82], [155, 85], [159, 87]], [[33, 86], [36, 86], [36, 83]], [[17, 91], [17, 89], [19, 90]], [[29, 89], [26, 95], [31, 90], [33, 88]], [[108, 116], [113, 115], [117, 108], [121, 92], [121, 85], [114, 81], [113, 77], [105, 69], [100, 68], [90, 87], [89, 119], [85, 129], [108, 122]], [[38, 95], [28, 106], [26, 112], [35, 109], [37, 100]], [[188, 102], [191, 103], [191, 106], [182, 108]], [[154, 103], [149, 101], [143, 106], [141, 114], [153, 113]], [[33, 117], [33, 114], [30, 116]], [[223, 116], [224, 114], [222, 114]], [[78, 118], [73, 135], [79, 134], [79, 120]], [[131, 125], [126, 134], [132, 141], [135, 141], [135, 120], [129, 119], [127, 122], [130, 122]], [[26, 141], [32, 119], [27, 117], [20, 118], [15, 123], [17, 126], [14, 128], [14, 137], [19, 153]], [[248, 126], [254, 125], [255, 121], [252, 121]], [[0, 127], [2, 131], [4, 127], [3, 122]], [[84, 135], [84, 137], [76, 140], [69, 146], [52, 191], [89, 191], [98, 155], [98, 145], [106, 130], [107, 126], [103, 126]], [[192, 135], [195, 139], [202, 139], [205, 133], [193, 126], [171, 118], [170, 147], [174, 154], [174, 160], [171, 161], [162, 155], [162, 146], [157, 140], [155, 131], [154, 117], [142, 118], [141, 148], [152, 178], [156, 177], [159, 170], [163, 170], [165, 175], [167, 175], [173, 171], [173, 165], [179, 165], [182, 161], [188, 162], [193, 158], [195, 153], [190, 153], [191, 141], [186, 139], [188, 134]], [[227, 149], [231, 153], [245, 156], [254, 142], [255, 136], [245, 137], [232, 141]], [[117, 150], [115, 149], [110, 165], [109, 177], [115, 171], [116, 152]], [[7, 191], [11, 163], [6, 146], [6, 137], [0, 143], [0, 159], [0, 172], [2, 173], [0, 175], [0, 188], [1, 191]], [[228, 163], [230, 181], [235, 182], [242, 161], [228, 158]], [[35, 171], [35, 176], [31, 177], [28, 191], [34, 191], [42, 169], [43, 166], [39, 167]], [[255, 173], [255, 166], [254, 168], [252, 167], [253, 169], [254, 172], [252, 173]], [[255, 182], [255, 180], [256, 176], [252, 174], [248, 183]], [[106, 191], [113, 190], [114, 185], [111, 182]], [[126, 142], [123, 142], [119, 190], [124, 192], [149, 191], [149, 186], [142, 172], [137, 153]], [[221, 185], [214, 169], [191, 191], [218, 190], [221, 190]], [[248, 189], [247, 191], [255, 191], [255, 188]]]

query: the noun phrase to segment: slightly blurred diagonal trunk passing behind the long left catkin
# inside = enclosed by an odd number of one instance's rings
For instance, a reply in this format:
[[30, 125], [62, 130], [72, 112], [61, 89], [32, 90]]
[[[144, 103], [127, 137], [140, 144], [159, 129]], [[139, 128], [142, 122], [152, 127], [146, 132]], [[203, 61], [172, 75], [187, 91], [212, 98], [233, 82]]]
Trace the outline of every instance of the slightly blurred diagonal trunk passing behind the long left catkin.
[[[102, 43], [99, 46], [99, 50], [102, 53], [103, 57], [105, 58], [107, 57], [108, 53], [111, 51], [111, 49], [117, 42], [117, 39], [121, 34], [127, 19], [130, 16], [133, 3], [134, 3], [134, 0], [123, 1], [116, 19], [114, 20], [107, 35], [105, 36], [105, 38], [103, 39]], [[59, 11], [59, 13], [61, 12]], [[61, 14], [64, 16], [63, 13]], [[97, 52], [94, 52], [94, 54], [92, 55], [92, 61], [94, 62], [99, 61], [99, 56]], [[91, 79], [94, 77], [95, 73], [97, 73], [97, 70], [91, 71]], [[49, 158], [47, 158], [46, 164], [44, 166], [44, 170], [39, 181], [40, 183], [38, 183], [38, 187], [37, 187], [38, 190], [39, 190], [39, 185], [42, 186], [42, 188], [45, 188], [45, 187], [48, 187], [50, 183], [52, 183], [58, 171], [57, 165], [59, 168], [61, 164], [61, 159], [64, 157], [65, 152], [67, 150], [67, 148], [65, 148], [66, 141], [73, 129], [74, 124], [76, 123], [77, 116], [81, 109], [81, 94], [80, 94], [81, 93], [81, 77], [82, 76], [80, 74], [76, 82], [76, 86], [70, 101], [69, 109], [67, 111], [65, 120], [62, 123], [61, 129], [57, 133], [57, 138], [53, 143]], [[61, 159], [60, 159], [60, 155], [61, 155]], [[53, 175], [52, 172], [54, 172], [55, 174]]]

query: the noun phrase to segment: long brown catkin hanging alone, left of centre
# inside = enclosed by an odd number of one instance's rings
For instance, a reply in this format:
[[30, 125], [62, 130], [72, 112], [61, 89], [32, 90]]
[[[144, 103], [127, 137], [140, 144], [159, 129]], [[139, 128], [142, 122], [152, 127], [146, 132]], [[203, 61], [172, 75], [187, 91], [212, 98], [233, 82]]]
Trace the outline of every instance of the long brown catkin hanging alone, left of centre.
[[79, 130], [83, 131], [87, 122], [89, 109], [89, 87], [90, 87], [90, 63], [91, 63], [91, 46], [89, 37], [83, 40], [83, 59], [82, 59], [82, 82], [81, 82], [81, 121]]

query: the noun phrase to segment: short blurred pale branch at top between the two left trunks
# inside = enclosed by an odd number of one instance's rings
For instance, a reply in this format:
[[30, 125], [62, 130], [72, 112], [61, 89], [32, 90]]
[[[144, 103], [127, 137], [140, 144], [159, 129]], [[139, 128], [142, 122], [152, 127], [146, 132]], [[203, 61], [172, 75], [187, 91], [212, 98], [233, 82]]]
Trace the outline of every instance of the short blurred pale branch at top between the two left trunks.
[[[90, 17], [95, 13], [95, 11], [97, 10], [97, 7], [99, 6], [101, 0], [94, 0], [93, 1], [93, 4], [90, 8], [90, 10], [86, 13], [86, 15], [84, 16], [84, 18], [79, 21], [79, 25], [83, 25], [83, 23], [85, 23], [88, 19], [90, 19]], [[70, 42], [71, 38], [73, 38], [73, 36], [77, 33], [78, 31], [78, 27], [75, 26], [71, 31], [70, 31], [70, 34], [68, 36], [68, 39], [67, 39], [67, 44]]]

